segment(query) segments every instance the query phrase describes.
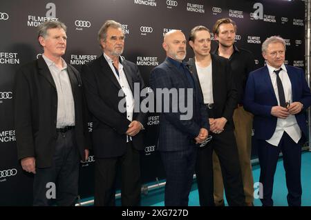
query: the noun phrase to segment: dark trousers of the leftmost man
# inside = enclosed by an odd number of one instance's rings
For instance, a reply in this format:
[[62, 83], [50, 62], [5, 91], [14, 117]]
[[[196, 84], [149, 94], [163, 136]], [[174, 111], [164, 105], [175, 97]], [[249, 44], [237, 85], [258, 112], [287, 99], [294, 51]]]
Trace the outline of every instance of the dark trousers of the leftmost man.
[[33, 183], [33, 206], [74, 206], [78, 195], [79, 151], [74, 128], [58, 137], [50, 168], [37, 168]]

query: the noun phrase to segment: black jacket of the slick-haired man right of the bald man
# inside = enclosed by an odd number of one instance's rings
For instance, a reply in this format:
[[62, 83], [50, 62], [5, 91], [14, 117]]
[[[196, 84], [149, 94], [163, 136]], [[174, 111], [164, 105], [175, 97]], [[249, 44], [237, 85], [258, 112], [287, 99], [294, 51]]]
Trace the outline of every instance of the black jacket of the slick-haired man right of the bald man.
[[[188, 64], [200, 86], [195, 59], [189, 59]], [[227, 119], [225, 129], [233, 129], [232, 115], [237, 105], [238, 93], [236, 84], [232, 79], [229, 60], [216, 54], [211, 54], [211, 65], [214, 98], [213, 112], [215, 118], [225, 117]]]

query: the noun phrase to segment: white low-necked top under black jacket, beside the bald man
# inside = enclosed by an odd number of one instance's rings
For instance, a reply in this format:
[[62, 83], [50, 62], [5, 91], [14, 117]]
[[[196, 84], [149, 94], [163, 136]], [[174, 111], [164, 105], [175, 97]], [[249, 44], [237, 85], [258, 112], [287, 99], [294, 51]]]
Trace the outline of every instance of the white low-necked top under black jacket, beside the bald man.
[[211, 63], [207, 67], [200, 67], [196, 63], [196, 71], [202, 89], [203, 99], [205, 104], [214, 103], [213, 97], [213, 75], [211, 74]]

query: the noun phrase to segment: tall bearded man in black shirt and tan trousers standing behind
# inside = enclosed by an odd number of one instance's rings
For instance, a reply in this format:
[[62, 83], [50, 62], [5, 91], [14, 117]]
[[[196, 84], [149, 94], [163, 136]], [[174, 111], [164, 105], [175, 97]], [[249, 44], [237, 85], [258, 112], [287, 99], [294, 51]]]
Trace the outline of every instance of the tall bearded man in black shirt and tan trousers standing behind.
[[[234, 45], [236, 37], [236, 23], [229, 18], [219, 19], [213, 27], [214, 37], [218, 41], [218, 47], [213, 52], [221, 57], [229, 59], [232, 67], [232, 76], [236, 80], [238, 90], [238, 105], [234, 110], [233, 121], [234, 134], [238, 146], [238, 154], [241, 163], [243, 177], [245, 203], [252, 206], [254, 201], [254, 181], [252, 177], [252, 165], [250, 163], [252, 151], [252, 118], [253, 115], [243, 108], [243, 96], [245, 83], [249, 72], [254, 70], [254, 55], [248, 50], [237, 48]], [[214, 199], [216, 206], [223, 206], [223, 177], [220, 163], [214, 153]]]

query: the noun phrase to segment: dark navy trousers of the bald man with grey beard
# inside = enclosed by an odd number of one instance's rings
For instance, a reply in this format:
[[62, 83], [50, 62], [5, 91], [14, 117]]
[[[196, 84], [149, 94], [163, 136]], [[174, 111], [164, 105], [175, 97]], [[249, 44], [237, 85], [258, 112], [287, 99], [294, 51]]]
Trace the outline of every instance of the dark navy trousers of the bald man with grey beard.
[[196, 150], [197, 147], [191, 145], [187, 150], [160, 152], [167, 180], [165, 206], [188, 206], [196, 164]]

